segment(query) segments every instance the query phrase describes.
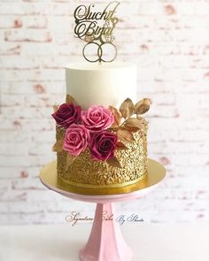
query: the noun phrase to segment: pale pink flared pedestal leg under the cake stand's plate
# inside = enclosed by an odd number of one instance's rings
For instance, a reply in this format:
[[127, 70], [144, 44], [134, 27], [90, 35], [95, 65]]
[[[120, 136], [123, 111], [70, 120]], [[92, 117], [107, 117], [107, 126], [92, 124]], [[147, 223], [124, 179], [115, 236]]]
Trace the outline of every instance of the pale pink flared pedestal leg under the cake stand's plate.
[[[104, 218], [105, 213], [105, 218]], [[112, 203], [97, 203], [89, 241], [80, 251], [81, 261], [129, 261], [132, 250], [113, 219]]]

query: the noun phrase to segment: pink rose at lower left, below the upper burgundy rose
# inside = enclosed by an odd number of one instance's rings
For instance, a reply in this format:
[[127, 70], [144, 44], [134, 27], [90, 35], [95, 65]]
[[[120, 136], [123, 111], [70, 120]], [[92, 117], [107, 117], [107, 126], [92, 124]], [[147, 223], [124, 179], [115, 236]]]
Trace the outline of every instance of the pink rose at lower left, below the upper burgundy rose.
[[89, 130], [82, 125], [72, 124], [66, 129], [63, 150], [73, 156], [78, 156], [86, 149], [89, 142]]

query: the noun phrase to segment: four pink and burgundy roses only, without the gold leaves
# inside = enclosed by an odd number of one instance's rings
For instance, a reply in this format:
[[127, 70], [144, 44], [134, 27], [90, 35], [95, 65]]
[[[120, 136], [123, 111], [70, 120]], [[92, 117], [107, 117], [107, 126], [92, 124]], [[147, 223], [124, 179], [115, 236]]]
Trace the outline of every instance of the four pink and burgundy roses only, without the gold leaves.
[[72, 156], [79, 156], [89, 147], [95, 160], [114, 157], [117, 135], [106, 130], [114, 122], [111, 110], [93, 105], [82, 111], [80, 106], [70, 103], [60, 105], [52, 117], [58, 126], [66, 128], [63, 150]]

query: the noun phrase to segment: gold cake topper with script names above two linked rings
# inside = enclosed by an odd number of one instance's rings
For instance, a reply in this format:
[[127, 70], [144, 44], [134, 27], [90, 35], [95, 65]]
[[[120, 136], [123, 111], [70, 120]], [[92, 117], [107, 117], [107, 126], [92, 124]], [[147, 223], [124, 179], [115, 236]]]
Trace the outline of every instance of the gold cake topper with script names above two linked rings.
[[[95, 4], [79, 5], [74, 11], [74, 34], [87, 42], [82, 50], [83, 57], [91, 62], [112, 62], [117, 57], [113, 30], [119, 19], [115, 12], [120, 2], [108, 4], [103, 12], [97, 11]], [[92, 58], [92, 50], [94, 58]]]

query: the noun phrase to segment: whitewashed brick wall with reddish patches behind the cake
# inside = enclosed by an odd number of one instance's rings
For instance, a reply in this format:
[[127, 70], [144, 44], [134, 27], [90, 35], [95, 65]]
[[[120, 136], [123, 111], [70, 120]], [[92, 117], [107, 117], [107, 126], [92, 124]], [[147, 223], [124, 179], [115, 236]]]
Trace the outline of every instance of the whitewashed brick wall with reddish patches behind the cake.
[[[55, 158], [50, 113], [65, 98], [65, 65], [83, 60], [74, 8], [91, 2], [0, 0], [1, 224], [62, 223], [71, 211], [94, 211], [38, 179]], [[116, 208], [147, 222], [209, 221], [209, 1], [120, 2], [119, 59], [137, 63], [138, 97], [153, 101], [149, 156], [167, 176], [143, 199]]]

